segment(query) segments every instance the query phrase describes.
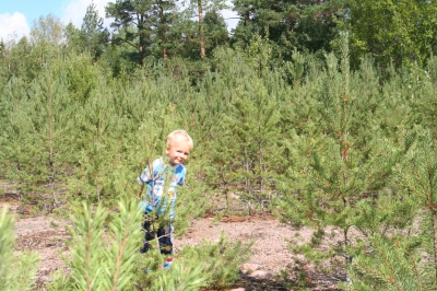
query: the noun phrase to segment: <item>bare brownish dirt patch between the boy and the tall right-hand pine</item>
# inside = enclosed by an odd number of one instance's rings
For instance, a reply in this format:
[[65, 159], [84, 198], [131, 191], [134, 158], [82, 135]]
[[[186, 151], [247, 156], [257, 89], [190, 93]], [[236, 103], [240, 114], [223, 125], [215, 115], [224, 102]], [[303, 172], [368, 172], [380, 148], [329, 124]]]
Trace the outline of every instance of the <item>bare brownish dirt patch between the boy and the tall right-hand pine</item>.
[[[253, 242], [252, 256], [249, 261], [240, 266], [241, 279], [231, 289], [226, 290], [290, 290], [277, 278], [280, 272], [294, 276], [296, 267], [288, 248], [292, 240], [299, 243], [309, 242], [312, 230], [302, 228], [296, 230], [281, 223], [270, 216], [265, 217], [224, 217], [215, 221], [214, 217], [208, 217], [191, 222], [188, 232], [175, 240], [175, 251], [184, 245], [197, 245], [206, 240], [218, 242], [223, 233], [231, 242]], [[340, 279], [327, 277], [320, 273], [308, 272], [309, 282], [306, 290], [336, 290]]]

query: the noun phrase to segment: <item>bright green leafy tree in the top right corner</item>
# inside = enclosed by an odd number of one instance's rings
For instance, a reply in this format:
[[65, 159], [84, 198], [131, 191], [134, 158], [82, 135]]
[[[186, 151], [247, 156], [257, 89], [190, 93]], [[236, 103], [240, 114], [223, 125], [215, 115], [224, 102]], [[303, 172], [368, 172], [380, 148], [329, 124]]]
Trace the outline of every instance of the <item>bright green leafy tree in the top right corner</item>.
[[386, 67], [423, 65], [435, 54], [434, 1], [350, 1], [354, 58], [373, 54]]

